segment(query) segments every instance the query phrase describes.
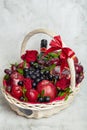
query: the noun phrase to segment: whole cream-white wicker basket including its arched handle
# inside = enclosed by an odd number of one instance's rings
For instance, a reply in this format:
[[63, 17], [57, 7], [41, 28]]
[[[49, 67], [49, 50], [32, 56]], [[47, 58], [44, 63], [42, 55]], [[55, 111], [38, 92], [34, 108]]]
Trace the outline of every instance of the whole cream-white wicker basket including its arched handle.
[[[28, 33], [22, 43], [21, 46], [21, 54], [24, 53], [25, 47], [27, 44], [27, 41], [35, 34], [38, 33], [44, 33], [49, 35], [50, 37], [54, 37], [56, 34], [52, 33], [45, 29], [37, 29], [30, 33]], [[65, 46], [65, 45], [63, 45]], [[70, 75], [71, 75], [71, 84], [70, 88], [73, 91], [67, 100], [61, 100], [61, 101], [53, 101], [50, 103], [38, 103], [38, 104], [31, 104], [31, 103], [25, 103], [21, 102], [15, 98], [13, 98], [10, 94], [8, 94], [4, 88], [2, 88], [2, 93], [6, 100], [8, 101], [11, 108], [17, 112], [18, 115], [25, 116], [27, 118], [42, 118], [42, 117], [49, 117], [53, 114], [58, 113], [60, 110], [65, 109], [70, 105], [70, 103], [73, 101], [75, 95], [79, 91], [80, 87], [75, 87], [75, 68], [74, 68], [74, 62], [72, 58], [68, 58], [68, 65], [70, 68]]]

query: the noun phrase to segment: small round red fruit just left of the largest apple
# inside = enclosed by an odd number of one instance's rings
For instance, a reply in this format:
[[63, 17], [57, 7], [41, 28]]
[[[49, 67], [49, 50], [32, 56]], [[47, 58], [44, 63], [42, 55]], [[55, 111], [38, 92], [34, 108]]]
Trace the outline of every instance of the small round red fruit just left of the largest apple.
[[38, 92], [35, 89], [30, 89], [30, 91], [26, 92], [26, 96], [29, 102], [37, 102]]

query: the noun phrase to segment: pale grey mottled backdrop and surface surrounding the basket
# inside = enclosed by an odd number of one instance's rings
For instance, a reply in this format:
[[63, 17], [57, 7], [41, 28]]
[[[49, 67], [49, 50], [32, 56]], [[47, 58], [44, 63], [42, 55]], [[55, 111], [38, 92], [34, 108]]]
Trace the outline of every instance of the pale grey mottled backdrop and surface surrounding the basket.
[[[21, 42], [33, 29], [47, 28], [62, 36], [84, 66], [85, 79], [72, 105], [50, 118], [39, 120], [17, 116], [0, 92], [0, 130], [87, 129], [87, 0], [0, 0], [0, 86], [3, 70], [20, 60]], [[28, 48], [39, 48], [36, 35]]]

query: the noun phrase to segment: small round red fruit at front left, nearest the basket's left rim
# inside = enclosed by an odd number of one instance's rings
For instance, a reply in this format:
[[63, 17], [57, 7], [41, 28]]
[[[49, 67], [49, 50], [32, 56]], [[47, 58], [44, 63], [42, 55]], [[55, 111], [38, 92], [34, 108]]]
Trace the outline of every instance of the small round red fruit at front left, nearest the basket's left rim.
[[21, 87], [18, 85], [12, 86], [11, 94], [13, 97], [20, 99], [20, 97], [23, 95]]

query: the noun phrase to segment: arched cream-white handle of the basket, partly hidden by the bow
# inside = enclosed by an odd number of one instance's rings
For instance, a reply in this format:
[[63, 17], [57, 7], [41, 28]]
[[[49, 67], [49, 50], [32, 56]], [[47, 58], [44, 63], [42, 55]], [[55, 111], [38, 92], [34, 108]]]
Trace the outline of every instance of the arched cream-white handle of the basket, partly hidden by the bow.
[[[50, 37], [54, 37], [56, 36], [57, 34], [56, 33], [53, 33], [47, 29], [36, 29], [36, 30], [33, 30], [31, 32], [29, 32], [23, 42], [22, 42], [22, 45], [21, 45], [21, 55], [24, 54], [25, 52], [25, 48], [26, 48], [26, 45], [27, 45], [27, 42], [28, 40], [35, 34], [38, 34], [38, 33], [44, 33], [44, 34], [47, 34], [49, 35]], [[64, 43], [63, 43], [64, 45]], [[70, 75], [71, 75], [71, 83], [70, 83], [70, 88], [72, 89], [72, 91], [74, 91], [75, 89], [75, 67], [74, 67], [74, 61], [72, 58], [68, 58], [68, 65], [69, 65], [69, 68], [70, 68]]]

